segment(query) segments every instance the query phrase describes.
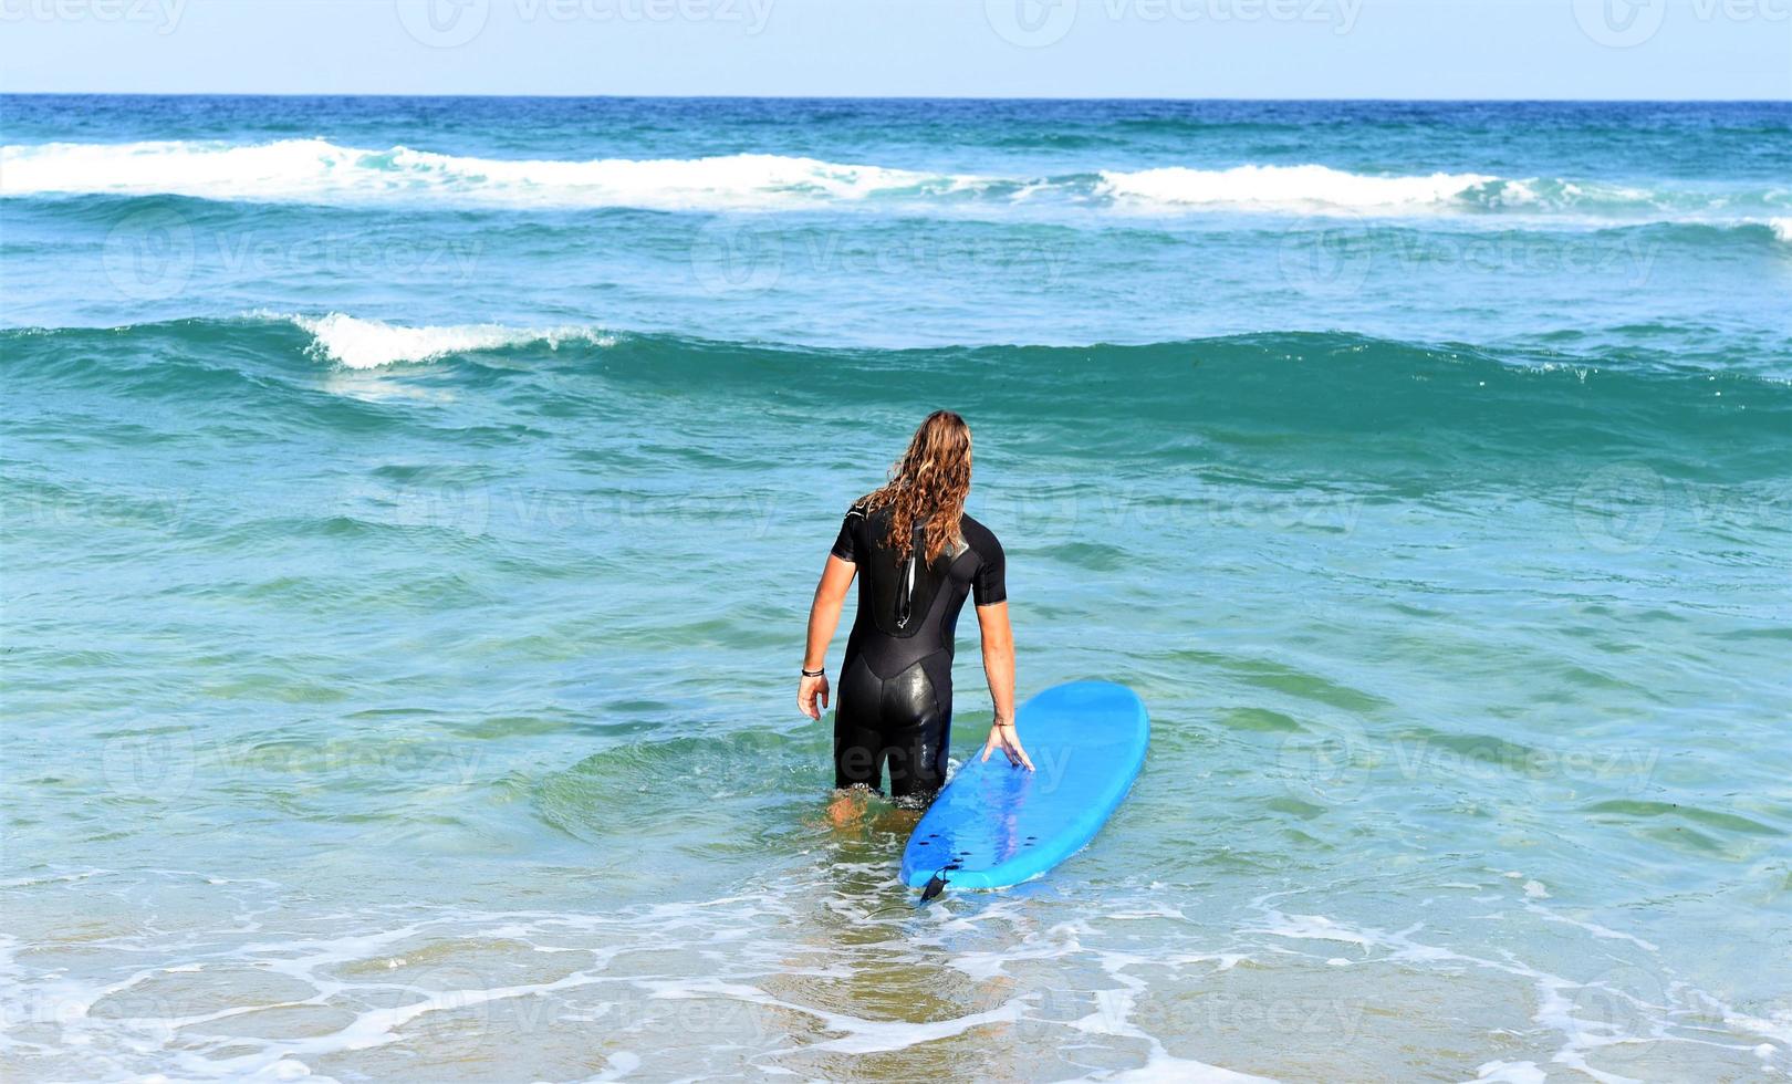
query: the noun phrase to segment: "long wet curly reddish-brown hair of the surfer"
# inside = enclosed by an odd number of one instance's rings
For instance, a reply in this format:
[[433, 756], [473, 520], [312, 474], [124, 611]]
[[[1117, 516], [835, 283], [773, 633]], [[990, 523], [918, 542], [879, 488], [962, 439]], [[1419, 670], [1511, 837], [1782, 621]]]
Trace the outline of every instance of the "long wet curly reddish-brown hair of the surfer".
[[971, 426], [952, 410], [934, 410], [914, 430], [909, 450], [891, 468], [891, 480], [866, 496], [867, 511], [891, 509], [889, 546], [900, 561], [925, 525], [926, 563], [939, 561], [961, 539], [959, 518], [971, 493]]

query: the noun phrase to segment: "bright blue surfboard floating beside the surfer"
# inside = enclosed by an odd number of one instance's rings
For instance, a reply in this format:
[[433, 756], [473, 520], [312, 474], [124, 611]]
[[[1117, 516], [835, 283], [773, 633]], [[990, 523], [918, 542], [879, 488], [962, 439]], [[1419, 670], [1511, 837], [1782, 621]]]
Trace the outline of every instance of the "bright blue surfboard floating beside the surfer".
[[[1036, 770], [982, 749], [959, 767], [901, 855], [910, 889], [1004, 889], [1081, 851], [1125, 799], [1150, 744], [1145, 704], [1124, 684], [1072, 681], [1020, 710]], [[937, 890], [937, 887], [934, 889]]]

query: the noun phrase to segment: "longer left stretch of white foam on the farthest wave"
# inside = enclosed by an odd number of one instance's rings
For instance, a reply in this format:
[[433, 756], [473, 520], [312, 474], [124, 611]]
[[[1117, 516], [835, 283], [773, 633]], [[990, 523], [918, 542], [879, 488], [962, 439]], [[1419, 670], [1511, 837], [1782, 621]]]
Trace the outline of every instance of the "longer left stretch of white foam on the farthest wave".
[[952, 192], [977, 177], [781, 154], [665, 159], [498, 159], [328, 140], [186, 140], [0, 147], [0, 194], [190, 195], [246, 202], [423, 199], [496, 206], [753, 210]]

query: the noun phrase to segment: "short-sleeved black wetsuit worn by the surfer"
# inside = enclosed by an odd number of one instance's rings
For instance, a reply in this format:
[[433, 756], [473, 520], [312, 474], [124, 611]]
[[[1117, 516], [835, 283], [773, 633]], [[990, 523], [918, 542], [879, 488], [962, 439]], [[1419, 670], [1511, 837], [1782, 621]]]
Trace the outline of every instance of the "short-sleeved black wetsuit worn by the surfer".
[[964, 516], [962, 543], [926, 561], [916, 530], [900, 559], [887, 545], [889, 509], [853, 505], [833, 555], [858, 564], [858, 618], [846, 640], [833, 711], [833, 785], [882, 788], [889, 765], [894, 797], [928, 797], [946, 781], [952, 731], [952, 636], [964, 597], [977, 606], [1007, 598], [1002, 543]]

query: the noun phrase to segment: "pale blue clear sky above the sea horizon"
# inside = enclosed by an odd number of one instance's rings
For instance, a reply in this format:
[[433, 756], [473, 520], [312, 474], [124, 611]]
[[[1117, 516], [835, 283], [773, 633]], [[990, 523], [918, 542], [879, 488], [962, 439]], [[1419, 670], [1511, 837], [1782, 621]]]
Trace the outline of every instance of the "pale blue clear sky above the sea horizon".
[[1792, 0], [0, 0], [0, 90], [1792, 99]]

